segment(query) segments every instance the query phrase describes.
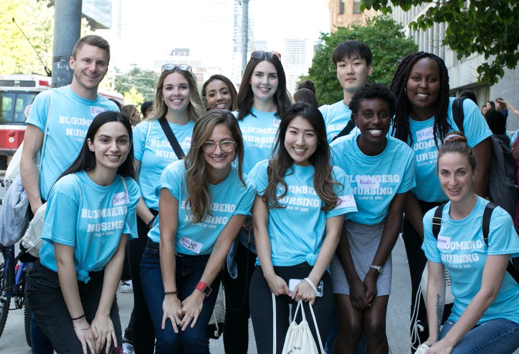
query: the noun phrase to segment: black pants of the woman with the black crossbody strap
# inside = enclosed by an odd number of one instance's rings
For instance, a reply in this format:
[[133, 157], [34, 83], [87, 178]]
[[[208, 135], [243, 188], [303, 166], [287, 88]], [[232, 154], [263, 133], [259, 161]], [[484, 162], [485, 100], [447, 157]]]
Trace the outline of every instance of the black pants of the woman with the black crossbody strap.
[[[158, 214], [156, 210], [150, 209], [149, 211], [151, 211], [153, 215]], [[135, 353], [139, 354], [153, 354], [155, 350], [155, 330], [153, 328], [152, 318], [149, 316], [141, 283], [141, 259], [144, 253], [144, 247], [146, 247], [146, 243], [148, 242], [148, 231], [149, 229], [146, 223], [137, 216], [137, 232], [139, 238], [128, 241], [130, 273], [133, 285], [133, 310], [128, 328], [131, 328], [131, 341]]]

